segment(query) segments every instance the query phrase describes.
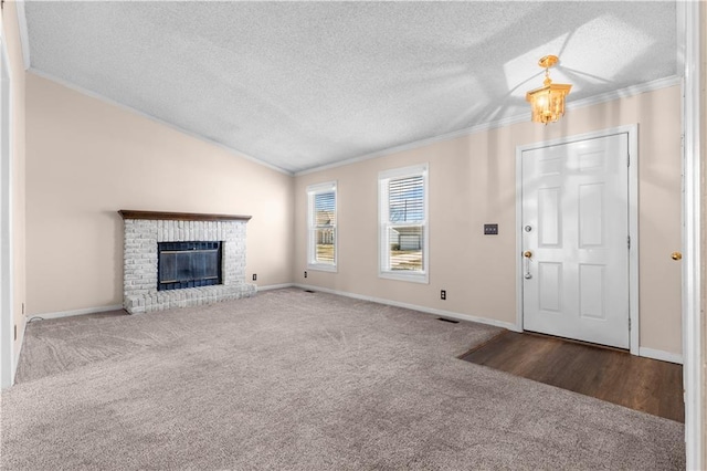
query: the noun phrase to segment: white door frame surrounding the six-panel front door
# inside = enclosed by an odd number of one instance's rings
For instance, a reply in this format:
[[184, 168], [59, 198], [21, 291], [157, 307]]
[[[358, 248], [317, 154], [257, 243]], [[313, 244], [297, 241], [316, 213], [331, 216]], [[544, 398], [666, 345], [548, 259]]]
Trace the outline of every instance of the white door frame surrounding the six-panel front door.
[[[629, 333], [632, 355], [639, 355], [639, 125], [612, 127], [592, 133], [516, 147], [516, 327], [523, 332], [523, 153], [544, 147], [627, 134], [629, 137]], [[629, 328], [629, 326], [626, 326]]]

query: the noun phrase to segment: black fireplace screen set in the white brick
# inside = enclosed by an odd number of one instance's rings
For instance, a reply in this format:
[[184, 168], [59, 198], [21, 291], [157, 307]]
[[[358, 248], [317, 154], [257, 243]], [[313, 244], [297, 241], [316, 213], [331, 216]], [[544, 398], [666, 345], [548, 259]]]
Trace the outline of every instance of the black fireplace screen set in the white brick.
[[158, 242], [157, 289], [221, 284], [221, 242]]

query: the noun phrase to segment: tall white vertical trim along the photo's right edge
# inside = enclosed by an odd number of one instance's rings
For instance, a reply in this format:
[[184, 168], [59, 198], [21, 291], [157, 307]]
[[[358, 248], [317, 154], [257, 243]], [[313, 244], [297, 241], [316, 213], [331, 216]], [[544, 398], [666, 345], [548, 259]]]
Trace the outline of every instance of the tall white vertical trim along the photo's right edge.
[[[684, 35], [685, 83], [683, 88], [683, 384], [685, 389], [685, 453], [687, 469], [704, 469], [705, 404], [701, 326], [701, 193], [700, 193], [700, 7], [685, 2], [678, 10]], [[684, 41], [684, 43], [683, 43]], [[704, 46], [704, 44], [701, 44]]]

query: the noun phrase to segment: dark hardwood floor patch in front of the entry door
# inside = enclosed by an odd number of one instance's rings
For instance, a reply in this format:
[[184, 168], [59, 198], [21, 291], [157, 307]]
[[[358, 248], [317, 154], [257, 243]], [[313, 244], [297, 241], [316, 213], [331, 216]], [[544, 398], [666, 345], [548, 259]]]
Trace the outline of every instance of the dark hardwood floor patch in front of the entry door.
[[685, 422], [682, 365], [516, 332], [504, 332], [460, 358]]

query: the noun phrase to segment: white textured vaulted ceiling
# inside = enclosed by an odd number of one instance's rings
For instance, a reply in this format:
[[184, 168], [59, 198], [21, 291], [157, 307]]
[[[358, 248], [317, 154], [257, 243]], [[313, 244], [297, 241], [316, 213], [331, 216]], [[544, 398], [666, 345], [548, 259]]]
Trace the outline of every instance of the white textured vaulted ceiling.
[[675, 76], [672, 2], [28, 1], [31, 70], [287, 171]]

